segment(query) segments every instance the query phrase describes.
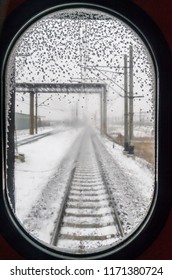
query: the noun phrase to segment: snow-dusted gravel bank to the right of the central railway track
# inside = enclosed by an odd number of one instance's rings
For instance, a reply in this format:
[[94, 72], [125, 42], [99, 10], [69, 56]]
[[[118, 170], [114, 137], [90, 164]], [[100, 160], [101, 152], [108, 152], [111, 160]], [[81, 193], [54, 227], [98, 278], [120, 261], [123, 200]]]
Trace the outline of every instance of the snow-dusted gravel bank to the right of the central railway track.
[[[114, 146], [106, 137], [99, 137], [99, 140], [105, 177], [124, 231], [130, 234], [149, 211], [154, 194], [153, 166], [143, 159], [127, 157], [123, 154], [123, 147], [118, 144]], [[103, 147], [106, 147], [108, 154], [103, 152]]]

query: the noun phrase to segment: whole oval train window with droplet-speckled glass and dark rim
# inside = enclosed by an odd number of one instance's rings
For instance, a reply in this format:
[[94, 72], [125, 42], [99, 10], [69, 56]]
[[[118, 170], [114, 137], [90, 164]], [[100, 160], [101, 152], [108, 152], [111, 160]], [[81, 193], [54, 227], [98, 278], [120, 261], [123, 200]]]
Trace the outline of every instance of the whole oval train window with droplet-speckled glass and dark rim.
[[159, 68], [144, 33], [111, 9], [53, 7], [5, 59], [5, 197], [22, 238], [60, 258], [132, 246], [159, 192]]

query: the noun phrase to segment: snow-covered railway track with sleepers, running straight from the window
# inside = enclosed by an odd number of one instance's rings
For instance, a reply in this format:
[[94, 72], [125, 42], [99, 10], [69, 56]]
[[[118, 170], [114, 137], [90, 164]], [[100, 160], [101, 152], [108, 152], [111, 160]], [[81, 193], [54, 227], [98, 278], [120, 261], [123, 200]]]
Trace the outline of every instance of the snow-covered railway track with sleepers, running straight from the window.
[[124, 236], [91, 134], [83, 139], [51, 239], [53, 246], [75, 254], [100, 250]]

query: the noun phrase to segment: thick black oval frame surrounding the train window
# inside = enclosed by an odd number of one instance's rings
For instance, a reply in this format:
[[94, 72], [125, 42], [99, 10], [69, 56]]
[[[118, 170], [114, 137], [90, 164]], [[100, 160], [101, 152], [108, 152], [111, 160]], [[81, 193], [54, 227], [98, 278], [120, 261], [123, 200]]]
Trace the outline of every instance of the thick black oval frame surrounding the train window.
[[[171, 205], [171, 191], [169, 182], [171, 180], [171, 172], [169, 170], [170, 166], [170, 153], [168, 152], [170, 143], [170, 51], [169, 48], [156, 27], [156, 25], [151, 21], [151, 19], [135, 4], [127, 3], [127, 10], [125, 5], [121, 4], [121, 1], [116, 1], [115, 3], [105, 4], [104, 1], [96, 1], [97, 3], [92, 3], [92, 1], [84, 2], [71, 2], [61, 1], [58, 5], [56, 1], [44, 1], [41, 5], [30, 5], [29, 3], [24, 3], [21, 5], [14, 13], [7, 19], [4, 23], [1, 40], [2, 40], [2, 53], [1, 53], [1, 155], [2, 155], [2, 168], [1, 168], [1, 178], [2, 178], [2, 188], [0, 193], [0, 210], [2, 213], [2, 224], [5, 221], [5, 228], [2, 229], [5, 238], [12, 244], [12, 246], [19, 251], [22, 255], [24, 254], [27, 258], [36, 259], [128, 259], [138, 256], [144, 249], [146, 249], [150, 243], [157, 236], [161, 228], [163, 227], [165, 220], [168, 216], [170, 205]], [[99, 11], [109, 13], [112, 16], [116, 16], [123, 22], [126, 22], [143, 40], [146, 47], [151, 53], [151, 57], [154, 58], [154, 67], [156, 72], [156, 84], [157, 84], [157, 97], [156, 108], [158, 109], [158, 114], [156, 116], [156, 146], [158, 146], [156, 151], [157, 159], [157, 184], [156, 194], [154, 195], [154, 201], [152, 202], [152, 207], [142, 222], [133, 234], [131, 234], [124, 242], [113, 248], [109, 248], [106, 251], [76, 256], [74, 254], [68, 254], [63, 252], [58, 252], [53, 248], [47, 247], [45, 244], [36, 241], [32, 238], [19, 224], [14, 213], [9, 205], [9, 200], [7, 197], [7, 187], [6, 187], [6, 119], [5, 116], [5, 68], [10, 51], [14, 46], [17, 39], [21, 36], [24, 30], [29, 27], [33, 22], [37, 21], [41, 17], [49, 14], [50, 12], [55, 12], [61, 9], [69, 8], [90, 8], [97, 9]], [[19, 19], [16, 26], [11, 30], [11, 24], [14, 23], [15, 18], [22, 14], [23, 16]], [[6, 36], [8, 34], [8, 36]], [[154, 34], [153, 38], [151, 34]], [[158, 46], [161, 45], [161, 48]], [[167, 63], [168, 61], [168, 63]], [[168, 68], [168, 69], [167, 69]], [[166, 70], [166, 72], [165, 72]], [[168, 70], [168, 71], [167, 71]], [[166, 74], [165, 74], [166, 73]], [[168, 76], [169, 75], [169, 76]], [[163, 98], [163, 92], [166, 92], [166, 98]], [[166, 110], [168, 108], [168, 110]], [[164, 137], [167, 134], [167, 137]], [[161, 205], [165, 207], [161, 209]], [[160, 214], [161, 213], [161, 214]], [[160, 214], [160, 215], [159, 215]], [[15, 238], [14, 238], [15, 237]], [[145, 239], [145, 237], [148, 237]], [[15, 241], [13, 241], [15, 239]], [[18, 240], [19, 242], [16, 242]], [[24, 251], [23, 251], [23, 248]], [[36, 252], [36, 254], [35, 254]]]

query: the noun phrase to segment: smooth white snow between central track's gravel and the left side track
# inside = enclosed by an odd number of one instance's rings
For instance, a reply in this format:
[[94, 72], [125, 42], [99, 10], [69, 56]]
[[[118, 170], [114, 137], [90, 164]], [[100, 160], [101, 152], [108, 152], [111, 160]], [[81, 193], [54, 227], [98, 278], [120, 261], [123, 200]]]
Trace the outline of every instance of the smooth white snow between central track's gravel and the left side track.
[[19, 147], [19, 153], [25, 155], [25, 162], [15, 163], [16, 215], [21, 222], [79, 133], [77, 128], [63, 129]]

